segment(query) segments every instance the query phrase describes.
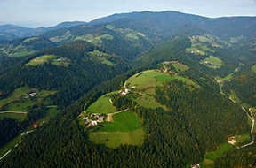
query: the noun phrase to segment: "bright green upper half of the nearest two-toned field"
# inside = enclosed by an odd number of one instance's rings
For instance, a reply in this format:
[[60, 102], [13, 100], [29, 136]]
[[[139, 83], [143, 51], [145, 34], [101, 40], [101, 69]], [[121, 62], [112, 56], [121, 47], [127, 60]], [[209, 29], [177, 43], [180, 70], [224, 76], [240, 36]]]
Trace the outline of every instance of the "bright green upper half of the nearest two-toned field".
[[114, 122], [105, 122], [99, 132], [131, 132], [140, 129], [141, 121], [132, 111], [114, 115]]

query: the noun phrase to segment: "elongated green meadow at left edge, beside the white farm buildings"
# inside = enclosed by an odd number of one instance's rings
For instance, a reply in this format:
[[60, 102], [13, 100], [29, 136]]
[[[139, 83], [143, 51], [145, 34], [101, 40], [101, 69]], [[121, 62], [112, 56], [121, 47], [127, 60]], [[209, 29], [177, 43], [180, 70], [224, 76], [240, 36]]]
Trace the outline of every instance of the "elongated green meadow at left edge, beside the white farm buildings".
[[28, 94], [29, 91], [30, 89], [26, 87], [16, 88], [11, 95], [0, 101], [0, 107], [7, 103], [12, 103], [14, 100], [20, 98], [22, 95]]

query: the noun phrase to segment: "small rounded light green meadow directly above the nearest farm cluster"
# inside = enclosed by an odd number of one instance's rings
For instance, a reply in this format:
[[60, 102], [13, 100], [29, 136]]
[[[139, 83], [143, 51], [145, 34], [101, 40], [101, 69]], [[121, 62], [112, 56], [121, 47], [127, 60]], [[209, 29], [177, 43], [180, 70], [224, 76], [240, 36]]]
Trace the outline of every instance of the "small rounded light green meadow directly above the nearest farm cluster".
[[116, 108], [109, 102], [106, 95], [102, 95], [96, 102], [92, 103], [86, 111], [89, 113], [102, 113], [108, 114], [116, 111]]

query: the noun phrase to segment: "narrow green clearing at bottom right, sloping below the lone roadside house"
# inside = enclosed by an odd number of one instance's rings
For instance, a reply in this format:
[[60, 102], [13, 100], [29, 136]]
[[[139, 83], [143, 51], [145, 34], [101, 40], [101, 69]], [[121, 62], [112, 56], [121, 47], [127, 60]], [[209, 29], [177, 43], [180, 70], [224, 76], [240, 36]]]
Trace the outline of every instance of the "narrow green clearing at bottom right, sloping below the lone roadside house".
[[213, 167], [214, 161], [218, 157], [222, 157], [223, 153], [228, 151], [228, 149], [231, 149], [232, 145], [228, 142], [220, 145], [218, 149], [216, 149], [214, 152], [207, 152], [204, 154], [204, 161], [201, 163], [202, 167]]

